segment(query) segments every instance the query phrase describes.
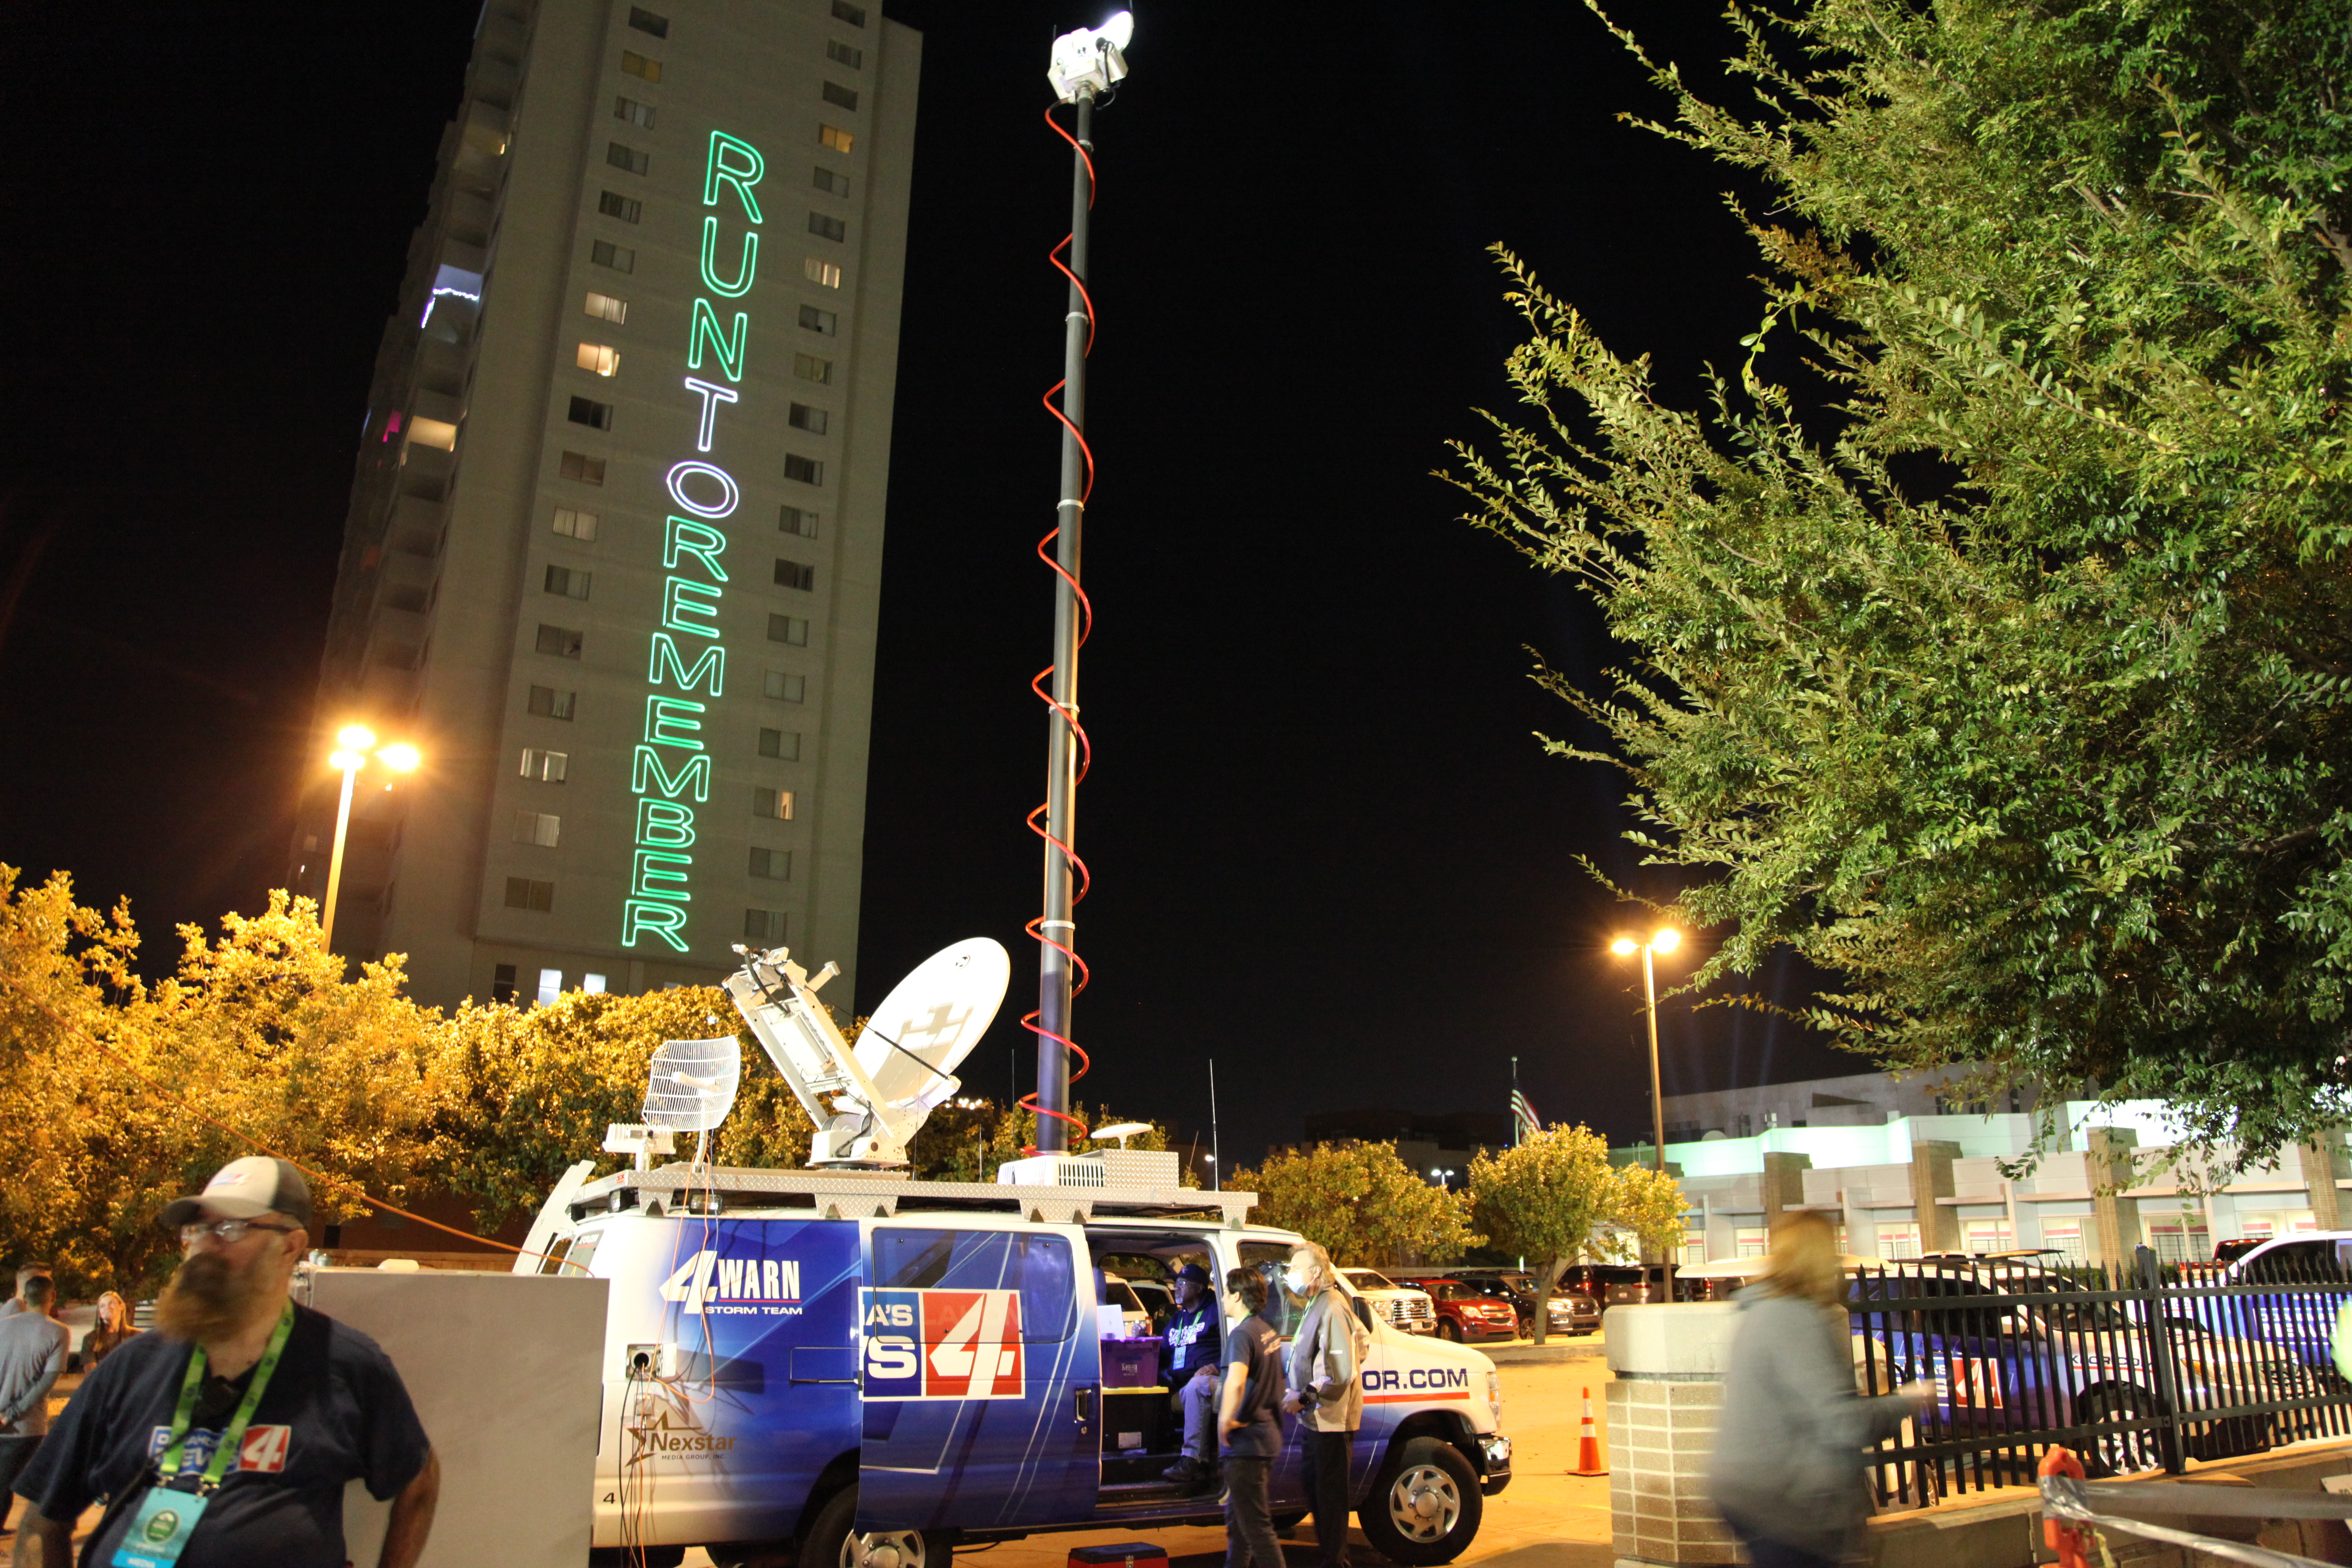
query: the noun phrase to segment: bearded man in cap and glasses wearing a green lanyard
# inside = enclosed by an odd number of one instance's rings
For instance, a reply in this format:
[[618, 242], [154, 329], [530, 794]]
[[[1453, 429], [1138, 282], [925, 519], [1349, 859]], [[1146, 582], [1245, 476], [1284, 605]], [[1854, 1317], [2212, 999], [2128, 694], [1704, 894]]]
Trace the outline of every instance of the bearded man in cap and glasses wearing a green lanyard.
[[343, 1568], [346, 1481], [393, 1500], [379, 1561], [414, 1568], [440, 1465], [390, 1356], [287, 1298], [310, 1229], [301, 1171], [235, 1159], [162, 1222], [186, 1255], [158, 1333], [106, 1356], [33, 1455], [16, 1568], [66, 1568], [99, 1497], [85, 1563]]

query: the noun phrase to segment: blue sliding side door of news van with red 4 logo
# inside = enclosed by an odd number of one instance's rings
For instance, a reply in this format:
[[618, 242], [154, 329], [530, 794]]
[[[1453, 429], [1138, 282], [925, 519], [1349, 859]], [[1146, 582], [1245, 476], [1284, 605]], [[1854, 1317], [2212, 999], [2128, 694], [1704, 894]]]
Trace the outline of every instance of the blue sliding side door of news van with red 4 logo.
[[868, 1220], [858, 1530], [1094, 1514], [1103, 1373], [1075, 1225]]

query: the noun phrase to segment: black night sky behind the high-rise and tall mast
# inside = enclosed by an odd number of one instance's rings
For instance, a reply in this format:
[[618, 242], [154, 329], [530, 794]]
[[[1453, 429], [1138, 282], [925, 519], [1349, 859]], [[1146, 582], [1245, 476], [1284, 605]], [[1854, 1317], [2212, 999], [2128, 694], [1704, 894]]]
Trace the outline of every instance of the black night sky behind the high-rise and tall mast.
[[[694, 0], [673, 0], [689, 14]], [[1068, 148], [1056, 5], [891, 0], [924, 33], [873, 715], [861, 1006], [962, 936], [1014, 947], [964, 1067], [1028, 1037]], [[1531, 654], [1621, 658], [1576, 590], [1463, 522], [1432, 468], [1508, 411], [1505, 242], [1696, 402], [1759, 313], [1729, 172], [1578, 5], [1141, 5], [1096, 118], [1087, 588], [1094, 985], [1082, 1100], [1185, 1131], [1216, 1058], [1228, 1164], [1310, 1110], [1646, 1128], [1618, 776]], [[0, 169], [0, 860], [169, 926], [282, 879], [353, 442], [470, 0], [7, 7]], [[1623, 16], [1693, 80], [1712, 5]], [[1590, 736], [1588, 736], [1590, 738]], [[807, 954], [823, 959], [826, 954]], [[1686, 966], [1677, 966], [1686, 969]], [[1790, 976], [1766, 987], [1797, 999]], [[1630, 990], [1628, 990], [1630, 985]], [[1757, 1013], [1661, 1009], [1668, 1093], [1853, 1072]]]

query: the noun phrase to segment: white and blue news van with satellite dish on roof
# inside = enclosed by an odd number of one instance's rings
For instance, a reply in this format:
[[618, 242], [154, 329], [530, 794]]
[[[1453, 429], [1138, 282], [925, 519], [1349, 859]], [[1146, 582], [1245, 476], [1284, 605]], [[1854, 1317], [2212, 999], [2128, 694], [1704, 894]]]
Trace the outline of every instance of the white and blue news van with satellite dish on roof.
[[[1037, 1157], [997, 1182], [891, 1171], [1007, 978], [997, 943], [960, 943], [849, 1048], [814, 1001], [826, 976], [748, 954], [727, 987], [816, 1119], [811, 1168], [647, 1168], [644, 1143], [708, 1131], [734, 1098], [734, 1039], [670, 1041], [647, 1126], [607, 1143], [637, 1147], [637, 1168], [576, 1166], [548, 1199], [529, 1244], [548, 1262], [517, 1267], [612, 1281], [597, 1561], [703, 1547], [741, 1568], [946, 1568], [962, 1544], [1044, 1530], [1221, 1521], [1214, 1490], [1162, 1479], [1181, 1415], [1103, 1276], [1258, 1269], [1289, 1333], [1298, 1237], [1249, 1225], [1247, 1192], [1181, 1187], [1174, 1154]], [[1357, 1519], [1392, 1561], [1454, 1561], [1510, 1481], [1494, 1361], [1357, 1316]], [[1284, 1439], [1272, 1502], [1294, 1521], [1294, 1418]]]

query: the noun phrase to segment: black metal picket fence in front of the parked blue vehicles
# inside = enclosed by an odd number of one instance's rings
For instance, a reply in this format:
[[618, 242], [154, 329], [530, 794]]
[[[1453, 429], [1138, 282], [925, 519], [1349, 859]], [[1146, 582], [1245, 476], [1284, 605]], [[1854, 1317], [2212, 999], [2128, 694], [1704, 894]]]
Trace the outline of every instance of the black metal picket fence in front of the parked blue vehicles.
[[2216, 1265], [1933, 1258], [1849, 1281], [1860, 1387], [1933, 1403], [1872, 1453], [1882, 1505], [2032, 1483], [2051, 1443], [2093, 1476], [2352, 1436], [2333, 1366], [2352, 1269], [2331, 1246]]

